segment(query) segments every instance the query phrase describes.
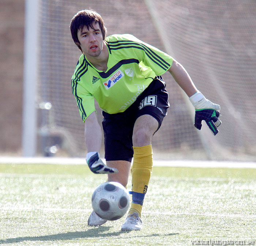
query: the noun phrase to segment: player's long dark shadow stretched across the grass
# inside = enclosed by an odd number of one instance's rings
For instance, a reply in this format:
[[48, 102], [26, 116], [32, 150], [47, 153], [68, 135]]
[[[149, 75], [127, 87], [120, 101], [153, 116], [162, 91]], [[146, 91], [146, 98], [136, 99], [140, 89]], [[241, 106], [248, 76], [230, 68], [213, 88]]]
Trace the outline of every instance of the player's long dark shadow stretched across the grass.
[[[18, 242], [24, 242], [24, 241], [60, 241], [60, 240], [74, 240], [74, 239], [107, 238], [107, 237], [118, 236], [123, 233], [128, 233], [125, 231], [102, 233], [102, 232], [108, 231], [109, 229], [110, 229], [109, 226], [100, 226], [100, 227], [91, 228], [88, 231], [67, 232], [67, 233], [45, 235], [40, 237], [8, 238], [8, 239], [0, 240], [0, 245], [7, 244], [7, 243], [18, 243]], [[176, 234], [178, 233], [164, 234], [164, 236], [171, 236]], [[155, 237], [155, 236], [161, 236], [161, 234], [140, 235], [138, 237], [134, 236], [134, 234], [131, 235], [132, 238]]]

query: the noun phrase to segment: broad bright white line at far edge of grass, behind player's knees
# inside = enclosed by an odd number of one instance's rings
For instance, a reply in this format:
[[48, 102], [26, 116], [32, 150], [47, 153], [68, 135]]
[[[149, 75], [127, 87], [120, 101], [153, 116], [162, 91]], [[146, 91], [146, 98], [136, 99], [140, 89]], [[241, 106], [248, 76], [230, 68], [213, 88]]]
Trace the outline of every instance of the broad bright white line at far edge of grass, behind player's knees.
[[[0, 157], [0, 164], [57, 164], [86, 165], [85, 158], [60, 157]], [[194, 168], [256, 168], [256, 162], [200, 161], [200, 160], [154, 160], [154, 166]]]

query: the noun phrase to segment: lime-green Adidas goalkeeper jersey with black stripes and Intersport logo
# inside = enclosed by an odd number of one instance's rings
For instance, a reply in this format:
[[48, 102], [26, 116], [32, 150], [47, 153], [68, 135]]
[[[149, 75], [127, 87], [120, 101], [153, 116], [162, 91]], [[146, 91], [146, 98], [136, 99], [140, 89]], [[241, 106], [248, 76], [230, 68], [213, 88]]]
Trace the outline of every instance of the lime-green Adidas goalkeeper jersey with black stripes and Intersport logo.
[[72, 92], [85, 119], [99, 107], [109, 113], [124, 112], [148, 87], [156, 75], [162, 75], [172, 65], [172, 57], [130, 34], [111, 35], [108, 46], [108, 69], [94, 68], [81, 55], [72, 76]]

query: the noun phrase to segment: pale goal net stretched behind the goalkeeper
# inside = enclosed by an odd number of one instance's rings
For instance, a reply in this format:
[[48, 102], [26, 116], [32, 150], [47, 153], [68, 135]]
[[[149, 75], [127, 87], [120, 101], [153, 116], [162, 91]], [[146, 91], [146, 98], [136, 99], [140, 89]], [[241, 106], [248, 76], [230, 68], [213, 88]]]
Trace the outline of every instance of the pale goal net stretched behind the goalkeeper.
[[153, 137], [156, 158], [256, 159], [254, 0], [39, 0], [39, 154], [86, 154], [84, 124], [71, 92], [81, 53], [69, 23], [87, 8], [101, 14], [108, 35], [133, 34], [172, 55], [206, 98], [221, 105], [219, 134], [214, 137], [206, 124], [196, 130], [187, 96], [164, 74], [170, 109]]

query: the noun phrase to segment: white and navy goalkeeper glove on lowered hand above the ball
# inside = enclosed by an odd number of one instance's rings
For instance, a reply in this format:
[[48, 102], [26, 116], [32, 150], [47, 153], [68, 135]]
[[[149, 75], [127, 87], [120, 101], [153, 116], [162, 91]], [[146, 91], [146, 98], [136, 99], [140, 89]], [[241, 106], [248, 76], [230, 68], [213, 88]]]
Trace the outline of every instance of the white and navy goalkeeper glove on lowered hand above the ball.
[[99, 153], [96, 151], [87, 153], [86, 162], [93, 173], [118, 173], [116, 168], [106, 166], [99, 158]]

